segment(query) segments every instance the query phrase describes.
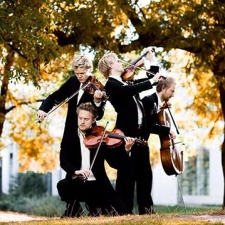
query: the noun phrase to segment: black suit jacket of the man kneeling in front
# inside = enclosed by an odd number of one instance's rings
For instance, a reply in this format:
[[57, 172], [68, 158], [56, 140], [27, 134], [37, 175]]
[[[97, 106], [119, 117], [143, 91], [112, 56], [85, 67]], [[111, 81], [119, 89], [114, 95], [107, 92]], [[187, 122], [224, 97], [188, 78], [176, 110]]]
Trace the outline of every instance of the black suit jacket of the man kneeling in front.
[[[90, 149], [90, 165], [95, 156], [96, 150], [97, 149]], [[81, 160], [80, 139], [77, 130], [65, 134], [61, 143], [60, 166], [64, 171], [66, 171], [67, 179], [71, 179], [74, 172], [81, 169]], [[92, 172], [96, 180], [98, 180], [104, 188], [108, 188], [108, 190], [113, 191], [113, 187], [110, 184], [105, 171], [105, 160], [111, 167], [118, 169], [124, 160], [129, 160], [128, 154], [124, 149], [124, 145], [114, 149], [108, 149], [106, 145], [102, 145], [92, 167]]]

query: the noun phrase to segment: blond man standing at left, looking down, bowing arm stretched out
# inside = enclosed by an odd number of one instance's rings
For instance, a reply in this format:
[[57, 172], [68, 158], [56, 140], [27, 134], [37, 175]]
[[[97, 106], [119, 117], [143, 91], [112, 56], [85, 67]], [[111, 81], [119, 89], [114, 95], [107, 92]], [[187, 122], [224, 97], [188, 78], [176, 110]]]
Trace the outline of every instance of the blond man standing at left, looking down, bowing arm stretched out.
[[75, 92], [77, 95], [68, 101], [68, 111], [65, 121], [64, 135], [70, 132], [71, 129], [77, 126], [77, 118], [74, 116], [76, 108], [84, 102], [91, 102], [98, 110], [98, 118], [100, 120], [104, 114], [105, 101], [102, 100], [103, 92], [96, 90], [94, 94], [84, 91], [84, 85], [90, 78], [92, 71], [92, 61], [87, 55], [78, 54], [71, 62], [75, 76], [70, 77], [57, 91], [50, 94], [41, 104], [37, 116], [38, 120], [42, 122], [48, 115], [48, 112], [59, 103], [65, 101]]

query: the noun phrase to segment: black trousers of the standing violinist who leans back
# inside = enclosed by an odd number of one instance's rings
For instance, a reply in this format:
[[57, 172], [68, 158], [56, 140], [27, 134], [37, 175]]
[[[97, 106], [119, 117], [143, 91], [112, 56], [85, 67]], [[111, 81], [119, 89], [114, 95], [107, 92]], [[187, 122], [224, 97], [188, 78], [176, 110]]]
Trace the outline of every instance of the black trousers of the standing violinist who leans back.
[[134, 206], [135, 184], [139, 214], [148, 214], [153, 201], [152, 169], [147, 146], [134, 145], [129, 160], [117, 171], [116, 192], [125, 201], [130, 213]]

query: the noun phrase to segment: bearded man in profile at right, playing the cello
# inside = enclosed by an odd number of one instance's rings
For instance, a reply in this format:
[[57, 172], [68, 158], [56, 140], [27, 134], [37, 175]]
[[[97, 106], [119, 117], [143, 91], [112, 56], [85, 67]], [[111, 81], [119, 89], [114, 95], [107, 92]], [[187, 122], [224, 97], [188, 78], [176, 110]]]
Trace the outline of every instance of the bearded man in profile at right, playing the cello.
[[161, 110], [161, 107], [165, 107], [165, 102], [167, 103], [174, 96], [176, 88], [176, 81], [173, 77], [165, 75], [161, 75], [161, 77], [163, 78], [158, 81], [156, 92], [142, 99], [146, 115], [147, 134], [170, 135], [171, 138], [175, 138], [176, 135], [170, 126], [161, 126], [157, 122], [157, 113]]

